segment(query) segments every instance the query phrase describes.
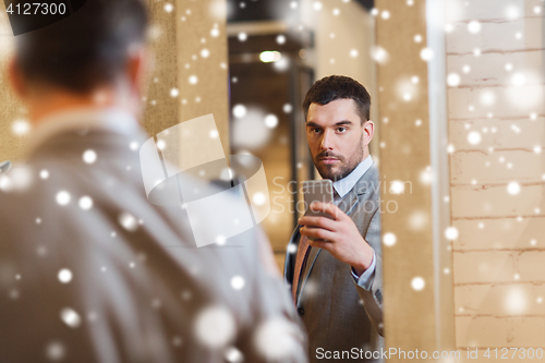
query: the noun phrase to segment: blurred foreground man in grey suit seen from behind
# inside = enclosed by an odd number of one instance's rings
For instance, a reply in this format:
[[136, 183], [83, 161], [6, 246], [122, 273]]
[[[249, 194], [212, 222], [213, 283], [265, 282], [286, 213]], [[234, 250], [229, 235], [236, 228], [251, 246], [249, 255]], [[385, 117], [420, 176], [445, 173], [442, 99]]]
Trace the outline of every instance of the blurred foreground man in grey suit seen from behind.
[[181, 205], [146, 198], [146, 24], [141, 0], [88, 0], [16, 39], [34, 131], [0, 176], [0, 361], [306, 362], [263, 232], [197, 249]]

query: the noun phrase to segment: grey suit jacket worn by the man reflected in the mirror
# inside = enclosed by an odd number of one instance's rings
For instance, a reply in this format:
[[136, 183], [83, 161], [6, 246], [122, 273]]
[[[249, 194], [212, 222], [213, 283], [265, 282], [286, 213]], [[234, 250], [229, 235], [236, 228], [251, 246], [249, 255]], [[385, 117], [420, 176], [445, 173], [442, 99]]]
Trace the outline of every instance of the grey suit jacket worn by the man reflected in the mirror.
[[[355, 283], [351, 267], [322, 249], [311, 249], [301, 273], [296, 306], [308, 330], [311, 362], [329, 361], [320, 360], [324, 351], [351, 351], [353, 348], [377, 351], [383, 347], [379, 193], [378, 170], [372, 166], [339, 203], [339, 208], [350, 216], [375, 250], [376, 268], [368, 286]], [[300, 228], [295, 228], [290, 243], [299, 245]], [[293, 282], [295, 256], [296, 252], [288, 253], [286, 258], [284, 277], [289, 285]], [[360, 356], [339, 361], [362, 361]]]

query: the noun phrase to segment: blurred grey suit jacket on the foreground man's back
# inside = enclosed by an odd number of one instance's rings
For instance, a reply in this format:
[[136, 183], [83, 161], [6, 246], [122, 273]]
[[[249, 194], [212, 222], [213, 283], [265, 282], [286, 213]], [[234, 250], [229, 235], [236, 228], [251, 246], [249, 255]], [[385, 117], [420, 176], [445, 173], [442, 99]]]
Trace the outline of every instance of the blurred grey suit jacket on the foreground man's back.
[[[263, 266], [262, 232], [197, 249], [183, 208], [146, 198], [130, 144], [147, 137], [68, 132], [12, 170], [11, 187], [3, 180], [0, 362], [203, 363], [240, 353], [306, 362], [280, 274]], [[82, 159], [88, 149], [92, 165]], [[80, 207], [84, 196], [90, 209]], [[267, 339], [293, 350], [275, 360]]]

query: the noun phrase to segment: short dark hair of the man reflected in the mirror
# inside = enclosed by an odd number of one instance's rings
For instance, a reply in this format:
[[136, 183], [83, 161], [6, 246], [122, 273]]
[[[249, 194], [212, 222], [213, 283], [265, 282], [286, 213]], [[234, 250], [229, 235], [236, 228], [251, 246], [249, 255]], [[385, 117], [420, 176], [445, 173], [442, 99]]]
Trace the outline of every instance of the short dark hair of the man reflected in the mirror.
[[343, 75], [330, 75], [316, 81], [306, 93], [303, 112], [308, 116], [312, 104], [327, 105], [337, 99], [353, 99], [356, 104], [362, 124], [371, 119], [371, 96], [362, 84]]

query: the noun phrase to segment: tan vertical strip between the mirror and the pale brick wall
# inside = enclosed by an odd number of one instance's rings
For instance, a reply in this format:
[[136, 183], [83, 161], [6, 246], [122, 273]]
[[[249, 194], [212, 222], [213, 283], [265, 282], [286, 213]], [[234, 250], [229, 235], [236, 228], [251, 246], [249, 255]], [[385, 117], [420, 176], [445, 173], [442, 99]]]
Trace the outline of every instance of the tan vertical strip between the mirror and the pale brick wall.
[[[421, 58], [426, 1], [378, 0], [376, 8], [377, 46], [387, 55], [377, 57], [383, 235], [396, 238], [383, 246], [386, 346], [431, 356], [453, 348], [453, 316], [438, 308], [444, 291], [436, 283], [445, 279], [436, 275], [432, 226], [428, 66]], [[403, 193], [390, 193], [393, 181], [404, 184]]]

